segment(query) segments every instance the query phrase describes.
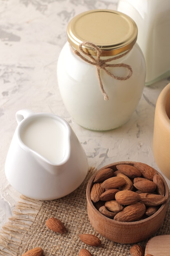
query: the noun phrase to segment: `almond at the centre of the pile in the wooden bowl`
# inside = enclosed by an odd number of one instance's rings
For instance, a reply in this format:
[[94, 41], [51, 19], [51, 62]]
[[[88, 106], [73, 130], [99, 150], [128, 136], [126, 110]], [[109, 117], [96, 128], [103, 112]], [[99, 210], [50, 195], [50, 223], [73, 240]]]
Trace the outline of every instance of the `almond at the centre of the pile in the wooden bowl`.
[[116, 193], [115, 200], [123, 205], [135, 204], [140, 200], [140, 195], [131, 190], [121, 190]]

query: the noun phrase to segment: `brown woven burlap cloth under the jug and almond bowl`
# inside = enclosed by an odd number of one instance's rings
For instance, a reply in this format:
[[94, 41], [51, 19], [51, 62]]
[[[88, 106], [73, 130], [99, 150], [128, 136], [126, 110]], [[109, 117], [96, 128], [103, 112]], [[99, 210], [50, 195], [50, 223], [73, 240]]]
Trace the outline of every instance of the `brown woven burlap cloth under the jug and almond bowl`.
[[[0, 255], [20, 256], [34, 247], [42, 247], [44, 256], [76, 256], [82, 248], [92, 255], [128, 256], [132, 245], [113, 243], [97, 234], [91, 226], [86, 211], [86, 185], [96, 170], [89, 168], [86, 179], [64, 198], [39, 201], [21, 196], [13, 217], [2, 227], [0, 233]], [[45, 222], [50, 217], [62, 220], [68, 232], [57, 234], [49, 230]], [[100, 247], [91, 247], [82, 243], [79, 234], [95, 234], [102, 240]], [[155, 235], [170, 234], [170, 203], [166, 218]], [[140, 244], [145, 247], [147, 241]]]

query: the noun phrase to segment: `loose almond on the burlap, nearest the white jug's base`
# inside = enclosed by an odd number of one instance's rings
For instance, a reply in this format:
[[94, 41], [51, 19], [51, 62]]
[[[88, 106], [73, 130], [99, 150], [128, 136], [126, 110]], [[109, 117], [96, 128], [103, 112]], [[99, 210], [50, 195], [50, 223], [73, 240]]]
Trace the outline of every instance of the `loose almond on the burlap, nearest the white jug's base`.
[[63, 234], [66, 232], [66, 227], [61, 222], [61, 220], [51, 217], [48, 220], [46, 220], [46, 226], [51, 229], [54, 232]]

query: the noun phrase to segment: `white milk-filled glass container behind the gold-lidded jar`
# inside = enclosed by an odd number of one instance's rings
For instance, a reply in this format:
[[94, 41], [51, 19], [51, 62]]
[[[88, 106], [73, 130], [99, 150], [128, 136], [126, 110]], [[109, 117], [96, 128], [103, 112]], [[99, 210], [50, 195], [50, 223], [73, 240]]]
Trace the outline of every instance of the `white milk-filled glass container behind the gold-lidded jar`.
[[170, 76], [170, 0], [119, 0], [117, 10], [137, 24], [146, 85]]

